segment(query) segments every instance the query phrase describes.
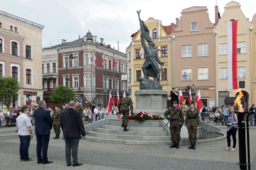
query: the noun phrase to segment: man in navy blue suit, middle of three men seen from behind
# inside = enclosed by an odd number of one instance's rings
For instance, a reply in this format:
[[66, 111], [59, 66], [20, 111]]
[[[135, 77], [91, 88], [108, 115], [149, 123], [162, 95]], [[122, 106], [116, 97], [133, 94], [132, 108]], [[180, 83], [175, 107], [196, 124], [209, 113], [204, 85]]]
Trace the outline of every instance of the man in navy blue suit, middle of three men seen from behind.
[[44, 100], [38, 102], [39, 108], [34, 111], [34, 119], [36, 120], [36, 154], [37, 163], [50, 164], [52, 161], [47, 158], [48, 144], [50, 140], [50, 130], [52, 129], [52, 117], [50, 111], [46, 110]]

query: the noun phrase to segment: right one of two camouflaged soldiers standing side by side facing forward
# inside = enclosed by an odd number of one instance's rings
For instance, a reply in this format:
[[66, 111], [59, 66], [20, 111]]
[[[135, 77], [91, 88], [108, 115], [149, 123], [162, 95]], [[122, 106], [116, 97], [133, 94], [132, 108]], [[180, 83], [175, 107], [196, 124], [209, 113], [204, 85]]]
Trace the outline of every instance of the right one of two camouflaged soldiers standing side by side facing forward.
[[190, 147], [188, 149], [196, 149], [197, 135], [196, 131], [199, 129], [200, 119], [199, 110], [195, 108], [194, 102], [189, 103], [190, 109], [186, 112], [186, 128], [188, 129], [188, 139]]

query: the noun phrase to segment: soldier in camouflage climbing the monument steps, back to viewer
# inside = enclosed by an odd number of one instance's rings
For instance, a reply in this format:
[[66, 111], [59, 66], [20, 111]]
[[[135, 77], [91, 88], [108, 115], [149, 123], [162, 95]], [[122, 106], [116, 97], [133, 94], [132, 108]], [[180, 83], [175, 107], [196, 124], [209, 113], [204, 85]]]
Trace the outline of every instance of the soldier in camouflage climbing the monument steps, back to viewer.
[[[130, 109], [131, 109], [131, 112], [133, 110], [133, 102], [132, 102], [132, 99], [129, 98], [130, 94], [128, 92], [125, 92], [125, 94], [126, 94], [126, 97], [120, 100], [117, 107], [118, 107], [119, 113], [122, 112], [123, 114], [123, 121], [121, 126], [124, 127], [124, 131], [129, 131], [128, 129], [126, 129], [126, 127], [128, 126], [129, 111]], [[130, 106], [130, 109], [129, 109], [129, 106]]]

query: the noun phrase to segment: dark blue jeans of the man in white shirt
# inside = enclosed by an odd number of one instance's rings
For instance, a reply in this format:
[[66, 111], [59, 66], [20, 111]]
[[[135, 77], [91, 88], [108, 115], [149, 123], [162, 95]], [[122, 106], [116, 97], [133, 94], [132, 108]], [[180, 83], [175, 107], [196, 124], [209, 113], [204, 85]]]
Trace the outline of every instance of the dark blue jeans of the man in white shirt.
[[20, 137], [20, 160], [28, 160], [28, 148], [30, 145], [30, 135], [19, 135]]

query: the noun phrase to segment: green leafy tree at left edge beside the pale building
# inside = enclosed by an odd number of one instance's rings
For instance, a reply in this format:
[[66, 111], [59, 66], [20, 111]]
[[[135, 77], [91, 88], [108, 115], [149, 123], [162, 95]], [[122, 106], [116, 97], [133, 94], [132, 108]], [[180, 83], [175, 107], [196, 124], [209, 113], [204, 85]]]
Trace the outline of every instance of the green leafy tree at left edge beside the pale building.
[[10, 108], [13, 101], [16, 100], [17, 92], [20, 90], [18, 78], [1, 77], [0, 78], [0, 103]]

